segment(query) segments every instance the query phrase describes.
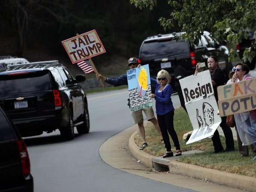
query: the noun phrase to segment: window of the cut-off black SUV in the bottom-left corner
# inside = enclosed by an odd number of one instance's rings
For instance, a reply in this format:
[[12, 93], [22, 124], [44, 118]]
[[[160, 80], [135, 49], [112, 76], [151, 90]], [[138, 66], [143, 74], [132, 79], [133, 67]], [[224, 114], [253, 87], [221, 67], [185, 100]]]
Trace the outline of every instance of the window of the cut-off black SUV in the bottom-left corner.
[[4, 116], [3, 111], [0, 110], [0, 141], [14, 139], [15, 135], [12, 131], [11, 125]]

